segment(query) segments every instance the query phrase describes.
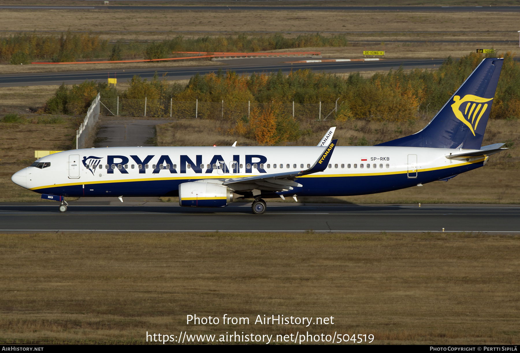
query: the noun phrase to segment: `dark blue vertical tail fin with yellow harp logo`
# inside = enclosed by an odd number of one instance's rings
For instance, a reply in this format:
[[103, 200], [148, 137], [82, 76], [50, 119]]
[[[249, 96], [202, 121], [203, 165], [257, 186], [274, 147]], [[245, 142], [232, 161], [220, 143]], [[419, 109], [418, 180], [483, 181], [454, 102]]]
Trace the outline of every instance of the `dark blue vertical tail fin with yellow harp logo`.
[[503, 60], [482, 60], [420, 132], [377, 146], [480, 149]]

